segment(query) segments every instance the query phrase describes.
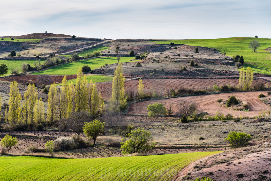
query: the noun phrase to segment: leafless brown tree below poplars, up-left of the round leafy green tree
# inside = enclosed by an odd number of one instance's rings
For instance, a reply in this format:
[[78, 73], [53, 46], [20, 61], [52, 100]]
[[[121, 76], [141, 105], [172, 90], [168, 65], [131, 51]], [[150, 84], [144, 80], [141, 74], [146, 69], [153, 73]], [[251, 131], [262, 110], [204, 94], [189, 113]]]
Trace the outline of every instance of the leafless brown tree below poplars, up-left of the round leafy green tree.
[[88, 121], [90, 121], [88, 111], [74, 112], [69, 118], [59, 120], [59, 130], [72, 130], [80, 135], [83, 131], [84, 122]]

